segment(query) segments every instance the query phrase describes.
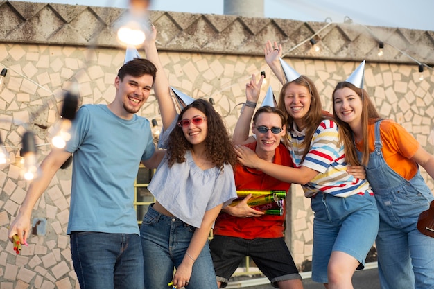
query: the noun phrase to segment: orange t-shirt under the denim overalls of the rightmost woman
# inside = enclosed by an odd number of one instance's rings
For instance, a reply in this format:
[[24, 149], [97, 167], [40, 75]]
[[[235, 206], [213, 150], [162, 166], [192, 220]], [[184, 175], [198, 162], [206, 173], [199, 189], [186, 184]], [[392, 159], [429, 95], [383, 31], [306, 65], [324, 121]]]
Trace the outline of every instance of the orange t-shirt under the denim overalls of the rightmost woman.
[[[419, 149], [419, 142], [398, 123], [390, 119], [383, 119], [380, 123], [380, 137], [383, 144], [381, 152], [386, 164], [404, 179], [411, 179], [417, 172], [417, 164], [411, 158]], [[374, 151], [375, 123], [368, 125], [368, 139], [370, 152]], [[359, 151], [363, 141], [356, 142]]]

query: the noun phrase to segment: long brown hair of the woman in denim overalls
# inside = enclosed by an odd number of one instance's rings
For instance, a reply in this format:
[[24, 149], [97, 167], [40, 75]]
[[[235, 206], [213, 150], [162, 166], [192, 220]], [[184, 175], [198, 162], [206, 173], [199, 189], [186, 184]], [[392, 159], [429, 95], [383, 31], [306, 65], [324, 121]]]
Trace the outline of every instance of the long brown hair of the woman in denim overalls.
[[[342, 89], [344, 87], [347, 87], [358, 95], [358, 97], [362, 100], [362, 137], [363, 137], [363, 149], [362, 149], [362, 160], [361, 162], [358, 161], [357, 154], [356, 154], [356, 147], [354, 146], [354, 137], [353, 137], [353, 131], [351, 130], [351, 127], [348, 123], [345, 123], [345, 121], [341, 121], [335, 111], [335, 93], [338, 89]], [[369, 149], [369, 141], [367, 138], [368, 135], [368, 125], [370, 123], [374, 123], [378, 119], [381, 119], [381, 116], [379, 112], [377, 112], [376, 108], [374, 107], [374, 104], [372, 103], [372, 100], [370, 99], [370, 96], [367, 94], [365, 89], [358, 88], [355, 85], [353, 85], [350, 82], [339, 82], [336, 85], [335, 90], [332, 94], [332, 100], [333, 100], [333, 116], [336, 119], [336, 123], [338, 123], [340, 129], [342, 130], [341, 137], [344, 141], [345, 146], [345, 158], [349, 162], [349, 164], [362, 164], [363, 166], [367, 165], [367, 162], [370, 158], [370, 149]]]

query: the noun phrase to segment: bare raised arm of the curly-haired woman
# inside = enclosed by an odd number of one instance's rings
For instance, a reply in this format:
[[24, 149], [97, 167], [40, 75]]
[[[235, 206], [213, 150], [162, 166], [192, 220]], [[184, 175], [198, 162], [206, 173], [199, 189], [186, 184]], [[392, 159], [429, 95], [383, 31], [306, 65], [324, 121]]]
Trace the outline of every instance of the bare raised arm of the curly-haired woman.
[[144, 42], [146, 58], [153, 62], [157, 67], [157, 76], [154, 83], [154, 92], [158, 100], [159, 111], [162, 114], [163, 128], [168, 128], [177, 116], [175, 104], [173, 103], [168, 79], [162, 62], [159, 60], [155, 39], [157, 38], [157, 30], [152, 25], [151, 31], [147, 33]]

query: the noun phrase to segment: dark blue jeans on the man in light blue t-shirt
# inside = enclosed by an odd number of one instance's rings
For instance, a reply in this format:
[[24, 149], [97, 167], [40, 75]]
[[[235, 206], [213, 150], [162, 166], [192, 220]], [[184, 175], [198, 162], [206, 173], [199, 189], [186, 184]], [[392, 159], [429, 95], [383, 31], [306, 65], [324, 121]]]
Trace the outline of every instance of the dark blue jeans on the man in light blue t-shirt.
[[143, 259], [137, 234], [74, 231], [71, 253], [81, 289], [143, 289]]

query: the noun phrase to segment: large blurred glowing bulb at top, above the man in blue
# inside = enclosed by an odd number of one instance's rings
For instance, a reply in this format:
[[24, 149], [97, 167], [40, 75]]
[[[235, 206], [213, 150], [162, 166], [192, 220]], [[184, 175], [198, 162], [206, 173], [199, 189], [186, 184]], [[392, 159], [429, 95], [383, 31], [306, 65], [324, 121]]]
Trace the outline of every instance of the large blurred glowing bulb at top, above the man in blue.
[[130, 0], [130, 8], [117, 31], [119, 42], [124, 45], [138, 46], [145, 41], [145, 30], [148, 28], [148, 0]]

